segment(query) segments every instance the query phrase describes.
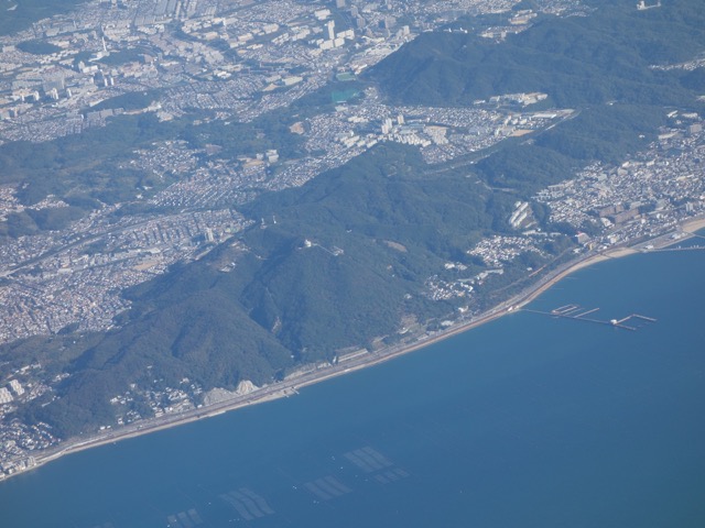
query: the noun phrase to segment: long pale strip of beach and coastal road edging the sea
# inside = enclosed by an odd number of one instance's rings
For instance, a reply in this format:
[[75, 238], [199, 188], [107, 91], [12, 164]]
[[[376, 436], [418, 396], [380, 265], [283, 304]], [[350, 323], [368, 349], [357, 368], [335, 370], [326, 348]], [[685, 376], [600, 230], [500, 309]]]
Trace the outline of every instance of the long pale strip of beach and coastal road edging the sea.
[[[695, 234], [696, 231], [705, 229], [705, 218], [696, 218], [683, 222], [682, 224], [675, 227], [674, 230], [669, 231], [668, 233], [655, 237], [654, 239], [650, 239], [649, 242], [653, 242], [654, 248], [658, 250], [668, 249], [670, 245], [674, 245], [676, 243], [688, 240], [693, 237], [699, 237]], [[681, 232], [683, 235], [677, 239], [673, 239], [672, 235], [675, 232]], [[148, 435], [151, 432], [156, 432], [164, 429], [170, 429], [176, 426], [191, 424], [196, 420], [200, 420], [204, 418], [213, 418], [215, 416], [221, 415], [224, 413], [228, 413], [231, 410], [240, 409], [243, 407], [249, 407], [257, 404], [263, 404], [267, 402], [272, 402], [275, 399], [280, 399], [283, 397], [289, 397], [291, 395], [297, 394], [297, 389], [302, 387], [306, 387], [310, 385], [314, 385], [317, 383], [325, 382], [327, 380], [341, 376], [344, 374], [348, 374], [350, 372], [356, 372], [362, 369], [367, 369], [369, 366], [373, 366], [401, 355], [409, 354], [411, 352], [417, 351], [425, 346], [438, 343], [448, 338], [457, 336], [459, 333], [466, 332], [474, 328], [477, 328], [487, 322], [499, 319], [502, 316], [513, 314], [514, 311], [519, 311], [523, 306], [533, 301], [541, 294], [546, 292], [549, 288], [554, 286], [556, 283], [567, 277], [568, 275], [583, 270], [585, 267], [592, 266], [594, 264], [605, 262], [610, 258], [620, 258], [623, 256], [637, 254], [637, 253], [648, 253], [651, 250], [644, 249], [646, 242], [640, 241], [631, 246], [617, 246], [612, 249], [607, 249], [605, 251], [599, 251], [595, 253], [584, 254], [577, 260], [571, 261], [562, 267], [551, 272], [547, 276], [538, 280], [533, 285], [531, 285], [528, 289], [521, 292], [520, 294], [500, 302], [494, 308], [490, 308], [486, 312], [481, 314], [477, 318], [474, 318], [468, 321], [463, 321], [456, 323], [442, 332], [438, 332], [433, 336], [425, 334], [419, 338], [415, 342], [403, 344], [403, 345], [393, 345], [388, 349], [382, 349], [380, 351], [369, 353], [359, 358], [355, 358], [344, 363], [338, 363], [332, 365], [329, 367], [321, 369], [317, 371], [313, 371], [295, 378], [285, 380], [274, 385], [268, 385], [261, 387], [257, 391], [253, 391], [249, 394], [236, 396], [234, 398], [229, 398], [224, 402], [219, 402], [213, 404], [208, 407], [196, 408], [193, 410], [188, 410], [186, 413], [182, 413], [180, 415], [174, 415], [170, 417], [162, 417], [160, 419], [152, 419], [142, 424], [134, 424], [129, 427], [122, 427], [116, 430], [108, 430], [100, 436], [94, 436], [86, 439], [75, 439], [74, 441], [67, 441], [65, 446], [58, 446], [56, 449], [50, 449], [45, 453], [36, 453], [34, 455], [35, 463], [34, 465], [26, 468], [25, 470], [18, 471], [13, 474], [6, 475], [4, 479], [0, 479], [0, 483], [7, 481], [13, 476], [23, 475], [29, 473], [32, 470], [41, 468], [44, 464], [47, 464], [52, 461], [58, 460], [59, 458], [77, 453], [80, 451], [85, 451], [87, 449], [97, 448], [100, 446], [106, 446], [109, 443], [116, 443], [118, 441], [141, 437], [143, 435]], [[641, 246], [641, 248], [638, 248]]]

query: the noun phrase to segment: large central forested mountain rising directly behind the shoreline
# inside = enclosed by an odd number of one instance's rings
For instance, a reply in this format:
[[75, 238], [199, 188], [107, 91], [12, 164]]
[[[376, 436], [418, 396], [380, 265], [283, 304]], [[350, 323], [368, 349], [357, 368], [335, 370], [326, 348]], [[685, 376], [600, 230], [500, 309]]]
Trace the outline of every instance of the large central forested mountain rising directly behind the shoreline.
[[[235, 243], [132, 288], [116, 329], [64, 340], [70, 376], [58, 399], [30, 411], [76, 433], [109, 422], [109, 399], [131, 383], [269, 383], [395, 334], [403, 316], [445, 316], [454, 305], [430, 300], [425, 278], [448, 260], [481, 270], [465, 251], [502, 223], [514, 198], [464, 170], [431, 172], [400, 145], [263, 195], [243, 211], [260, 221]], [[37, 361], [56, 361], [52, 350]]]

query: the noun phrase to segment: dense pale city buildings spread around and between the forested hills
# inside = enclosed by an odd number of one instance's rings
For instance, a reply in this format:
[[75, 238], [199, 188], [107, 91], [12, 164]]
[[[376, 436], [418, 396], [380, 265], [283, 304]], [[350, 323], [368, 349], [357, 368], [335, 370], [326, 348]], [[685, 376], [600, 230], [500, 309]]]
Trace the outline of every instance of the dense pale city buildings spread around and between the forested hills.
[[[238, 233], [253, 224], [276, 223], [275, 216], [249, 219], [239, 206], [267, 191], [301, 187], [376, 145], [414, 145], [427, 166], [447, 167], [575, 119], [579, 110], [542, 107], [546, 94], [531, 90], [436, 108], [392, 105], [376, 86], [357, 81], [405, 43], [460, 15], [501, 16], [502, 24], [480, 32], [499, 42], [530, 28], [539, 14], [586, 12], [577, 0], [536, 1], [532, 4], [539, 9], [512, 10], [517, 3], [109, 0], [0, 36], [0, 146], [40, 145], [99, 129], [109, 134], [120, 120], [140, 117], [164, 127], [187, 120], [196, 135], [198, 127], [227, 132], [257, 123], [251, 133], [261, 140], [231, 155], [208, 138], [200, 144], [158, 138], [111, 166], [147, 175], [132, 196], [96, 200], [61, 229], [6, 237], [0, 243], [0, 343], [113, 328], [116, 316], [130, 309], [123, 296], [128, 288], [175, 264], [198, 261], [224, 243], [237, 245]], [[634, 10], [647, 8], [634, 2]], [[703, 65], [694, 59], [654, 68]], [[296, 101], [329, 84], [336, 87], [334, 105], [321, 106], [319, 113], [294, 110], [281, 132], [284, 140], [264, 138], [262, 119], [292, 112]], [[558, 234], [541, 229], [540, 209], [549, 211], [552, 224], [564, 227], [563, 233], [572, 233], [575, 257], [664, 233], [679, 237], [682, 222], [705, 213], [705, 132], [698, 113], [672, 109], [665, 118], [668, 125], [655, 141], [620, 164], [595, 162], [576, 177], [518, 199], [505, 219], [510, 234], [492, 234], [466, 249], [485, 270], [470, 273], [466, 264], [448, 261], [425, 280], [427, 297], [455, 299], [464, 320], [477, 316], [473, 296], [478, 287], [520, 255], [546, 256], [546, 241]], [[32, 200], [23, 190], [0, 187], [0, 220], [52, 218], [74, 208], [58, 191]], [[534, 272], [525, 270], [527, 275]], [[426, 331], [413, 319], [400, 328], [416, 340]], [[340, 351], [339, 359], [367, 353], [358, 346]], [[290, 376], [307, 372], [304, 367]], [[0, 363], [0, 479], [33, 466], [37, 453], [65, 440], [47, 424], [23, 422], [14, 411], [66, 376], [46, 378], [39, 363], [12, 370]], [[243, 381], [237, 392], [205, 391], [187, 377], [178, 386], [155, 378], [152, 387], [134, 385], [116, 394], [111, 404], [119, 417], [101, 430], [207, 407], [257, 388]], [[135, 398], [138, 407], [130, 405]]]

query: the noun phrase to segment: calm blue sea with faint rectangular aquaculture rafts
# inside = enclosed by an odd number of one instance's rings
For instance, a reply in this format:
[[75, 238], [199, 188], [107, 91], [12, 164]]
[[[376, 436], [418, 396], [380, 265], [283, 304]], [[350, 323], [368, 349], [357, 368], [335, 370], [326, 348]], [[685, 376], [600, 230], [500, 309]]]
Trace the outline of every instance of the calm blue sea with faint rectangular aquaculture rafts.
[[286, 399], [0, 483], [0, 526], [705, 526], [705, 252], [582, 270], [518, 312]]

